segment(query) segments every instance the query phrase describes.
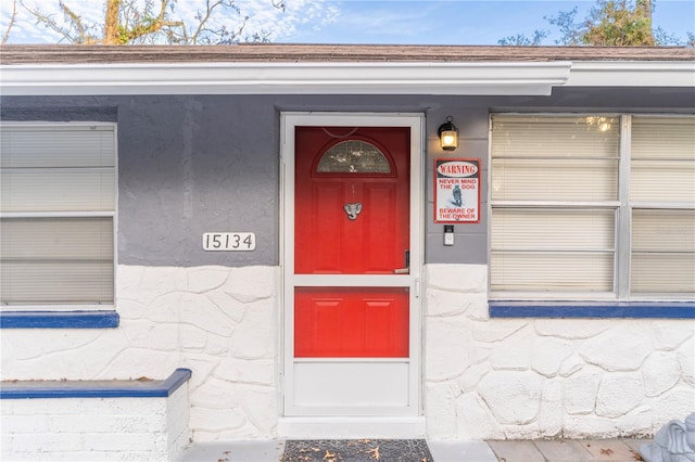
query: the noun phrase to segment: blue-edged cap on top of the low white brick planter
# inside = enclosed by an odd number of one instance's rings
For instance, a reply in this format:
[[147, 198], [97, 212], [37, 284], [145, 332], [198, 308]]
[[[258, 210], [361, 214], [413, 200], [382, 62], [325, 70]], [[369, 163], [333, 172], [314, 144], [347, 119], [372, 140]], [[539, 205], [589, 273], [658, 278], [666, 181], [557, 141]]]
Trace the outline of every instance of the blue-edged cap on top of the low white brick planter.
[[165, 398], [190, 377], [190, 369], [177, 369], [163, 381], [3, 381], [0, 399]]

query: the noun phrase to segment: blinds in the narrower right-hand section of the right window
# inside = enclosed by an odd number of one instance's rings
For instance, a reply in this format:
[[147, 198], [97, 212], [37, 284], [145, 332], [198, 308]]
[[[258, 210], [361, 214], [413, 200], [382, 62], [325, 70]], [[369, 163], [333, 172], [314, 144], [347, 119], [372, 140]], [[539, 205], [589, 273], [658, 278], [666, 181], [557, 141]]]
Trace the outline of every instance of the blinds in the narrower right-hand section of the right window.
[[[695, 117], [632, 117], [633, 294], [695, 294]], [[688, 208], [679, 209], [675, 207]]]

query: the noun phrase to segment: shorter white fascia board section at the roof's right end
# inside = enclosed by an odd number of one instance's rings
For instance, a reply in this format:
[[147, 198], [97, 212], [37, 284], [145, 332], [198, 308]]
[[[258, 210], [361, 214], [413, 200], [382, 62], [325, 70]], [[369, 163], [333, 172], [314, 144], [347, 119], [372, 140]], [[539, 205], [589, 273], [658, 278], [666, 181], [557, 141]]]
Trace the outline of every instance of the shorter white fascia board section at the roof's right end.
[[580, 61], [566, 87], [695, 87], [693, 61]]

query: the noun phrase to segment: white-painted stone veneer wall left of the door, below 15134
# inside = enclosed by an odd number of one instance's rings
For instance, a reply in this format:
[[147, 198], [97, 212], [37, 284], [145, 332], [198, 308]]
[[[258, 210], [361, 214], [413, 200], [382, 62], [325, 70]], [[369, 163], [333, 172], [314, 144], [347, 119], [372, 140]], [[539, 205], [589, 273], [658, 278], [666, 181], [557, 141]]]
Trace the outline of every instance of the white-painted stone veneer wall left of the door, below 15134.
[[192, 370], [194, 440], [271, 438], [278, 269], [118, 266], [121, 325], [2, 332], [2, 378], [165, 377]]

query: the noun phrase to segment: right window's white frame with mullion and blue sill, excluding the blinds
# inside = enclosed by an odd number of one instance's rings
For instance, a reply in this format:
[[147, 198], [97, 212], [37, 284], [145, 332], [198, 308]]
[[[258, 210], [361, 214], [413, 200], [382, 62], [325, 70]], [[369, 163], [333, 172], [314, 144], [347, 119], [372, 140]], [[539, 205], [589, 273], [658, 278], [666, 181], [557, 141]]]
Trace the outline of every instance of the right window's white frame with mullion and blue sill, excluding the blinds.
[[[557, 208], [558, 205], [552, 201], [493, 201], [493, 118], [496, 116], [518, 116], [518, 117], [592, 117], [605, 116], [619, 118], [619, 142], [618, 142], [618, 169], [617, 169], [617, 201], [612, 202], [611, 209], [615, 209], [615, 249], [612, 269], [612, 291], [611, 292], [585, 292], [585, 293], [561, 293], [561, 292], [513, 292], [492, 290], [492, 222], [493, 211], [497, 207], [544, 207]], [[620, 318], [695, 318], [695, 300], [692, 293], [683, 294], [635, 294], [630, 291], [630, 272], [632, 265], [632, 214], [634, 209], [695, 209], [695, 204], [688, 202], [631, 202], [630, 179], [632, 168], [632, 121], [633, 117], [644, 118], [690, 118], [694, 114], [653, 114], [653, 113], [628, 113], [628, 112], [577, 112], [577, 113], [518, 113], [498, 112], [489, 115], [489, 169], [488, 169], [488, 297], [491, 317], [620, 317]], [[546, 204], [543, 204], [546, 202]], [[603, 208], [608, 207], [607, 201]], [[581, 205], [579, 202], [568, 202], [573, 207]], [[566, 204], [566, 205], [568, 205]], [[551, 207], [552, 205], [552, 207]], [[592, 204], [587, 204], [592, 205]], [[595, 206], [595, 204], [593, 205]], [[634, 308], [634, 311], [631, 310]], [[655, 316], [648, 313], [654, 308], [657, 309]]]

